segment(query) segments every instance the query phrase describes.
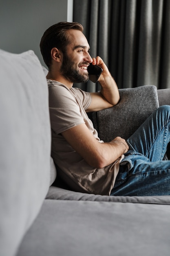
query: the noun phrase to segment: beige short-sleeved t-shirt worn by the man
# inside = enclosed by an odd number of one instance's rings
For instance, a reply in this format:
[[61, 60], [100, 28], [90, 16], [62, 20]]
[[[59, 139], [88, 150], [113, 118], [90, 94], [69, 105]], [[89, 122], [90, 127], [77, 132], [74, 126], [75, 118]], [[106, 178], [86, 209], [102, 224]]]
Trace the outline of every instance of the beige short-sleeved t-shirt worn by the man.
[[91, 104], [91, 94], [78, 88], [68, 89], [57, 81], [47, 81], [52, 135], [51, 155], [59, 167], [57, 175], [74, 191], [110, 195], [123, 156], [104, 168], [94, 168], [61, 135], [61, 132], [74, 126], [86, 124], [99, 143], [103, 143], [85, 111]]

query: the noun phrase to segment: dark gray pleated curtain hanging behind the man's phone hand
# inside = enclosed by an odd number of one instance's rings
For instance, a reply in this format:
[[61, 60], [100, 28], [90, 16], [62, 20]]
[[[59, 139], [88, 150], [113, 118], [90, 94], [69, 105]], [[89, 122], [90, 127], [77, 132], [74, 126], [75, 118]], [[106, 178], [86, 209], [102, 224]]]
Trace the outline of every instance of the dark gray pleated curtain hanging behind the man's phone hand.
[[[73, 21], [119, 88], [170, 88], [170, 0], [74, 0]], [[100, 89], [90, 81], [76, 86]]]

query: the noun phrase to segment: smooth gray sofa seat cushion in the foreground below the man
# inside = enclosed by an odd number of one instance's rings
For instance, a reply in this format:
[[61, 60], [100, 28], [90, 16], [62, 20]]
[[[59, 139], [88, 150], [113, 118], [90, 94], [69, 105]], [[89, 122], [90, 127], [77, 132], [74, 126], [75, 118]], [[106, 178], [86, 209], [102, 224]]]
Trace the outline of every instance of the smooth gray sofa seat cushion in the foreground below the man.
[[45, 200], [16, 256], [169, 256], [170, 205]]

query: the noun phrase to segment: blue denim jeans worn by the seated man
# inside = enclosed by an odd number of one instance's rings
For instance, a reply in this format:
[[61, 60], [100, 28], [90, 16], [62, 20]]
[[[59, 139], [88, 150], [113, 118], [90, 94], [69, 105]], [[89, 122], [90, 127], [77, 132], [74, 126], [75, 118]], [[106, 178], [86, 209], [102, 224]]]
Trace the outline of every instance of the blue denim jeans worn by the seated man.
[[127, 140], [110, 195], [170, 195], [170, 160], [163, 160], [170, 141], [170, 106], [161, 106]]

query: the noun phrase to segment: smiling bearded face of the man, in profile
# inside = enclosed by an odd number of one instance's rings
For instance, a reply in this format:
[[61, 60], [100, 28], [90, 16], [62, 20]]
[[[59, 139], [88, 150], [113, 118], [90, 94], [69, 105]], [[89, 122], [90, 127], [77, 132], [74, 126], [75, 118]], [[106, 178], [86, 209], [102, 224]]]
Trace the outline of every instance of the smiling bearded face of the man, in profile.
[[87, 67], [92, 62], [88, 42], [81, 31], [71, 29], [68, 33], [71, 37], [71, 44], [63, 53], [60, 72], [72, 83], [86, 83], [89, 79]]

